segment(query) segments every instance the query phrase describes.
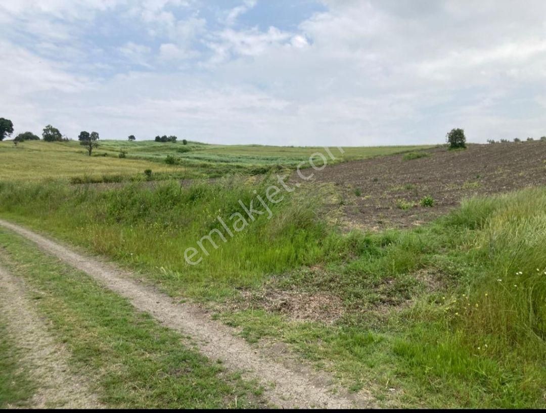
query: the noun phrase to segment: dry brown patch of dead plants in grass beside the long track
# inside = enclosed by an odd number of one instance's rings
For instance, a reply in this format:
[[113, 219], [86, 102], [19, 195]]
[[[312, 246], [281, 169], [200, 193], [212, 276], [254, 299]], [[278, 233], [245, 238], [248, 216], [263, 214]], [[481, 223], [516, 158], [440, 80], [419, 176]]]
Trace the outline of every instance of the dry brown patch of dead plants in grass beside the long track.
[[320, 321], [334, 323], [343, 314], [343, 303], [334, 294], [303, 291], [264, 290], [244, 291], [242, 302], [232, 309], [265, 309], [286, 315], [295, 321]]

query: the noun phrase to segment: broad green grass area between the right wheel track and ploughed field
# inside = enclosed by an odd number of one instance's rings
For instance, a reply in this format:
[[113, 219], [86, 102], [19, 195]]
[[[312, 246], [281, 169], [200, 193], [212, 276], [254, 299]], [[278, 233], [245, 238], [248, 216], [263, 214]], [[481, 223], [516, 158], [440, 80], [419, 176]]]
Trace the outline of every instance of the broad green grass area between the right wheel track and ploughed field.
[[261, 309], [218, 317], [248, 340], [285, 341], [386, 406], [544, 407], [546, 189], [467, 200], [411, 230], [341, 234], [316, 215], [331, 188], [301, 188], [203, 265], [183, 261], [218, 214], [239, 211], [237, 200], [247, 203], [266, 182], [116, 191], [2, 184], [0, 214], [140, 269], [173, 295], [335, 294], [344, 312], [334, 325]]

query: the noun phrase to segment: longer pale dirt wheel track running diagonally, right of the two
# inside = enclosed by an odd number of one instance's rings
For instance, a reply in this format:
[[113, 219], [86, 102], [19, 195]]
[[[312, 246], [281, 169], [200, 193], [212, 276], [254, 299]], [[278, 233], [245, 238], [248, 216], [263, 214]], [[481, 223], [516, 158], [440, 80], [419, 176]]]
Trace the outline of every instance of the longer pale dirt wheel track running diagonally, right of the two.
[[235, 337], [233, 329], [212, 321], [203, 310], [189, 303], [174, 303], [173, 298], [155, 288], [138, 284], [127, 272], [110, 263], [86, 257], [55, 241], [19, 225], [0, 220], [0, 225], [33, 241], [38, 247], [87, 273], [110, 288], [140, 311], [149, 312], [164, 326], [191, 335], [201, 353], [220, 359], [225, 367], [243, 371], [247, 380], [258, 380], [264, 396], [282, 408], [371, 407], [371, 398], [349, 394], [336, 387], [326, 373], [296, 363], [293, 358], [272, 359], [265, 349], [254, 349]]

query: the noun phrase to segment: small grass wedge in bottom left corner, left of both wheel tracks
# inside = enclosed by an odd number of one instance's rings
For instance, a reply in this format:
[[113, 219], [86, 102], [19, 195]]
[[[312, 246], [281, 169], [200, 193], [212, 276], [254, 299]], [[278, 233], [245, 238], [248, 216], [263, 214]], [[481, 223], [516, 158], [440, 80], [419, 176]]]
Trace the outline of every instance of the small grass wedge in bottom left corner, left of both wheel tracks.
[[19, 352], [8, 335], [5, 320], [0, 317], [0, 409], [8, 405], [24, 407], [34, 392], [28, 367], [17, 362]]

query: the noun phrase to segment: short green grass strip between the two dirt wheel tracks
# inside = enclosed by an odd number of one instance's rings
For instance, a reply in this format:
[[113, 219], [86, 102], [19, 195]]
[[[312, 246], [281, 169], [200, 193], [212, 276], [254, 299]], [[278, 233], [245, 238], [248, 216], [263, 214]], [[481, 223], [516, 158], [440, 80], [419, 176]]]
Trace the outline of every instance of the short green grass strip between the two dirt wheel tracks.
[[[237, 375], [225, 373], [221, 364], [182, 344], [179, 334], [134, 311], [126, 299], [36, 251], [32, 243], [0, 230], [0, 245], [0, 262], [35, 289], [39, 309], [71, 352], [73, 368], [92, 376], [105, 404], [116, 408], [242, 407], [260, 393]], [[13, 381], [13, 366], [6, 366], [3, 375]], [[15, 388], [24, 391], [24, 387]], [[8, 400], [22, 397], [14, 391], [7, 393]]]

